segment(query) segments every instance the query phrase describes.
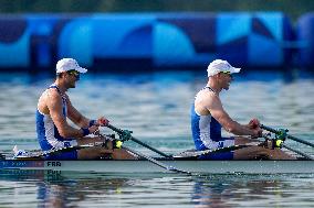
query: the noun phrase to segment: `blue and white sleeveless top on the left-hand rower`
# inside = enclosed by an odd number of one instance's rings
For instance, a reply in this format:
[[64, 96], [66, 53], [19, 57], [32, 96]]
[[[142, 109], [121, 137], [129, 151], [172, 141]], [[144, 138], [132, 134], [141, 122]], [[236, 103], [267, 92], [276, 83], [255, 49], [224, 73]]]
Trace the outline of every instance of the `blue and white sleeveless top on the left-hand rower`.
[[[67, 109], [66, 109], [65, 96], [62, 96], [56, 85], [51, 85], [49, 89], [50, 88], [55, 88], [57, 92], [61, 95], [62, 112], [63, 112], [64, 118], [66, 118]], [[38, 109], [35, 121], [36, 121], [38, 140], [43, 151], [48, 151], [51, 149], [62, 149], [62, 147], [67, 147], [67, 146], [77, 144], [76, 140], [73, 140], [73, 139], [65, 140], [65, 138], [60, 135], [57, 128], [53, 123], [53, 120], [50, 114], [44, 114], [40, 112], [40, 110]]]

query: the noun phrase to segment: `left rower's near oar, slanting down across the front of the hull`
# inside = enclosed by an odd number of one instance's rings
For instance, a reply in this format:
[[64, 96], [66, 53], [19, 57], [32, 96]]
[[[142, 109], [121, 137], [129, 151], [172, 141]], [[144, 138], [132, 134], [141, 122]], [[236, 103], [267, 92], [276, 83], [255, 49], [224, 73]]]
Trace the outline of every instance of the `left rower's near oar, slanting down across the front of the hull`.
[[[101, 133], [98, 133], [97, 135], [101, 136], [101, 138], [103, 138], [103, 139], [105, 139], [105, 140], [108, 139], [108, 138], [104, 136], [104, 135], [101, 134]], [[109, 139], [109, 140], [113, 141], [112, 139]], [[129, 149], [129, 147], [127, 147], [127, 146], [125, 146], [125, 145], [123, 145], [123, 144], [121, 145], [121, 147], [124, 149], [124, 150], [126, 150], [126, 151], [128, 151], [128, 152], [130, 152], [130, 153], [133, 153], [133, 154], [135, 154], [135, 155], [137, 155], [137, 156], [139, 156], [139, 157], [144, 157], [144, 158], [146, 158], [147, 161], [149, 161], [150, 163], [154, 163], [155, 165], [158, 165], [159, 167], [163, 167], [163, 168], [165, 168], [165, 169], [167, 169], [167, 171], [175, 172], [175, 173], [182, 173], [182, 174], [191, 175], [190, 172], [187, 172], [187, 171], [184, 171], [184, 169], [179, 169], [179, 168], [176, 168], [176, 167], [174, 167], [174, 166], [166, 165], [166, 164], [164, 164], [164, 163], [161, 163], [161, 162], [159, 162], [159, 161], [156, 161], [155, 158], [153, 158], [153, 157], [150, 157], [150, 156], [147, 156], [147, 155], [140, 153], [140, 152], [137, 152], [137, 151], [135, 151], [135, 150], [132, 150], [132, 149]]]

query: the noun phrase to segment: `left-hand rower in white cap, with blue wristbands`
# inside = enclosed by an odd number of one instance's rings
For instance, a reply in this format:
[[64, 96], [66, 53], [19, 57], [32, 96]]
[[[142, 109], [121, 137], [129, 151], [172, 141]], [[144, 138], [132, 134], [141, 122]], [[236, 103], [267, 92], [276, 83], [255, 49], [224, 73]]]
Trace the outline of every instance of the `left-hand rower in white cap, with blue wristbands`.
[[[108, 120], [100, 117], [92, 120], [84, 117], [66, 95], [70, 88], [75, 88], [81, 74], [86, 68], [78, 66], [73, 58], [63, 58], [56, 64], [56, 79], [45, 89], [38, 102], [36, 133], [40, 146], [43, 151], [59, 150], [69, 146], [84, 145], [104, 142], [103, 146], [73, 150], [49, 155], [49, 160], [93, 160], [112, 156], [113, 158], [134, 158], [125, 150], [113, 149], [108, 138], [88, 136], [98, 131], [100, 125], [106, 125]], [[76, 127], [67, 123], [70, 119]]]

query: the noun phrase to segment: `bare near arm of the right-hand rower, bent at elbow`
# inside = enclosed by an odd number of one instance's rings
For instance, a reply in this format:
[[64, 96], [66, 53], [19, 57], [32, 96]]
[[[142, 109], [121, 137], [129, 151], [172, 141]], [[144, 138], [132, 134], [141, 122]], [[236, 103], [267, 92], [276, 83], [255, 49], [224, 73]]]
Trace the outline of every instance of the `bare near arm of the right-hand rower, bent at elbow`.
[[206, 107], [226, 131], [236, 135], [255, 135], [255, 132], [247, 125], [242, 125], [229, 117], [217, 96], [208, 97]]

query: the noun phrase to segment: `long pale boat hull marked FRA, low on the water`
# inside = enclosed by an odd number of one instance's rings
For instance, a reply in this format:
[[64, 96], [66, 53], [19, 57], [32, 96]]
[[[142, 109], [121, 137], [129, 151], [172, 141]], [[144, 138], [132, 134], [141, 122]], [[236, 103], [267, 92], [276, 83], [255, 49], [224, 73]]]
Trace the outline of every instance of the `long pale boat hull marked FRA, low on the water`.
[[[200, 174], [314, 173], [314, 161], [160, 161]], [[96, 173], [171, 173], [149, 161], [0, 161], [0, 169], [46, 169]]]

